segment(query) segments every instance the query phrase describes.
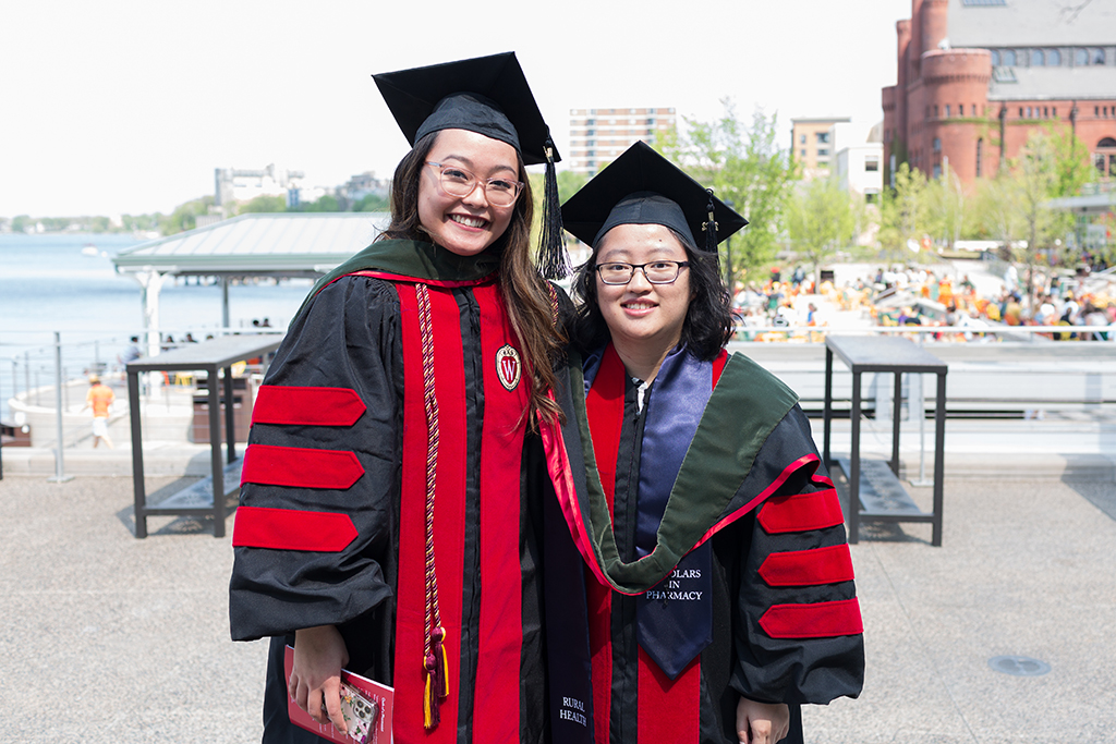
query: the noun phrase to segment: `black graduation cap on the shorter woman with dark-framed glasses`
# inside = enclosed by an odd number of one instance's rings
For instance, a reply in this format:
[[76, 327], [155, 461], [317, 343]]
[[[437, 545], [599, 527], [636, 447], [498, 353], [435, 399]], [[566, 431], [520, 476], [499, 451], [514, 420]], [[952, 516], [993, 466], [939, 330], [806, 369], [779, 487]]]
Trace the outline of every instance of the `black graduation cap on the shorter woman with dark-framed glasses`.
[[616, 225], [661, 224], [691, 236], [691, 248], [712, 253], [718, 243], [748, 224], [711, 189], [644, 142], [628, 147], [570, 196], [561, 214], [566, 230], [589, 245]]

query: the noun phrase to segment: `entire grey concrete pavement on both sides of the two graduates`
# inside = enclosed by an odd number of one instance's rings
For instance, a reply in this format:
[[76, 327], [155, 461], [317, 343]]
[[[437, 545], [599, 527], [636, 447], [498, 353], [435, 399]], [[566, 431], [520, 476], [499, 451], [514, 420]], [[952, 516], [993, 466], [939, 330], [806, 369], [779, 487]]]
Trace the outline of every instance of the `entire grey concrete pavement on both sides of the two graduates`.
[[[136, 540], [131, 501], [128, 477], [0, 481], [0, 742], [259, 741], [266, 648], [229, 640], [230, 539], [153, 518]], [[929, 541], [862, 528], [867, 684], [808, 708], [807, 741], [1116, 742], [1112, 477], [950, 479]]]

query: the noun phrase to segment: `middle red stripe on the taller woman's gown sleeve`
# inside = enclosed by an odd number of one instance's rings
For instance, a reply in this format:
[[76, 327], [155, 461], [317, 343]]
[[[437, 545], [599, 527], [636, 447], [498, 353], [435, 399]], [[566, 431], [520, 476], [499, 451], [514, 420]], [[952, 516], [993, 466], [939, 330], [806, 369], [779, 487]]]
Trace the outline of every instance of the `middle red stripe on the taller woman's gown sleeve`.
[[250, 444], [244, 451], [240, 484], [344, 490], [362, 475], [364, 467], [352, 452]]

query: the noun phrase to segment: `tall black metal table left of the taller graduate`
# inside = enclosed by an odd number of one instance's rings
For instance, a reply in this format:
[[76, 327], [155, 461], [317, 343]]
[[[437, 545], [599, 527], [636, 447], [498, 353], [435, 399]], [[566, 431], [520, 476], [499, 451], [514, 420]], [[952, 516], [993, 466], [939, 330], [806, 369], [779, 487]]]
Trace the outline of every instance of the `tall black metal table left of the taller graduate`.
[[[228, 461], [230, 468], [237, 461], [237, 439], [233, 428], [232, 400], [232, 365], [246, 359], [261, 357], [275, 350], [281, 335], [275, 336], [223, 336], [203, 344], [195, 344], [173, 349], [157, 357], [137, 359], [127, 365], [128, 374], [128, 407], [132, 416], [132, 482], [135, 491], [136, 538], [147, 537], [147, 516], [152, 514], [174, 514], [204, 516], [213, 515], [213, 537], [224, 537], [225, 519], [225, 467], [221, 464], [221, 403], [218, 397], [218, 370], [224, 369], [224, 418], [225, 442], [228, 444]], [[209, 376], [209, 421], [210, 445], [212, 447], [212, 504], [205, 505], [147, 505], [147, 493], [143, 475], [143, 436], [140, 431], [140, 373], [145, 371], [199, 371]], [[230, 471], [231, 472], [231, 471]], [[194, 484], [185, 489], [204, 493], [205, 484]], [[163, 504], [174, 502], [174, 494]], [[203, 496], [204, 499], [204, 496]]]

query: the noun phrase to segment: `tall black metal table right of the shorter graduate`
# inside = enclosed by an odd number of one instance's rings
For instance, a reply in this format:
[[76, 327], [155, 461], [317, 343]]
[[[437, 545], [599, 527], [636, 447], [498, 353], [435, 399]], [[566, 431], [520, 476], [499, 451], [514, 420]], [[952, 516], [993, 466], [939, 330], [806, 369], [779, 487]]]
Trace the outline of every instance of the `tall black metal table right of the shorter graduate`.
[[[853, 373], [853, 405], [849, 419], [853, 441], [847, 463], [840, 463], [848, 476], [848, 541], [859, 539], [860, 522], [930, 522], [933, 524], [932, 544], [942, 544], [942, 458], [945, 444], [945, 375], [947, 366], [934, 355], [905, 338], [882, 336], [829, 336], [826, 338], [826, 402], [825, 446], [826, 467], [833, 466], [829, 438], [833, 422], [834, 355]], [[879, 461], [860, 462], [860, 376], [864, 373], [893, 373], [895, 393], [892, 412], [892, 458], [884, 466]], [[903, 373], [937, 375], [937, 395], [934, 408], [934, 510], [921, 511], [898, 481], [899, 474], [899, 414], [903, 403]], [[924, 416], [925, 412], [917, 412]], [[868, 482], [862, 492], [862, 465]]]

